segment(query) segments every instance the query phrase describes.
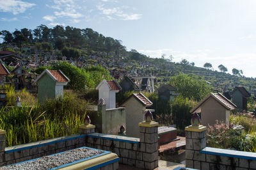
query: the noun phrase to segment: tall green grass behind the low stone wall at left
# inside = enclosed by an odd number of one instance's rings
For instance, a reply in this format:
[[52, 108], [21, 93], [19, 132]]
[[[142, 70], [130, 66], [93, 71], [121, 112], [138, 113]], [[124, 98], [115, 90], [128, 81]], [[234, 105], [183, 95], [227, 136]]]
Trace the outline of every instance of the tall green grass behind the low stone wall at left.
[[[9, 101], [17, 95], [12, 86], [6, 92]], [[26, 89], [19, 93], [20, 96], [30, 95]], [[65, 93], [63, 98], [47, 100], [43, 105], [3, 107], [0, 128], [6, 130], [6, 147], [77, 134], [79, 125], [84, 122], [87, 105], [88, 102], [78, 98], [77, 94]]]

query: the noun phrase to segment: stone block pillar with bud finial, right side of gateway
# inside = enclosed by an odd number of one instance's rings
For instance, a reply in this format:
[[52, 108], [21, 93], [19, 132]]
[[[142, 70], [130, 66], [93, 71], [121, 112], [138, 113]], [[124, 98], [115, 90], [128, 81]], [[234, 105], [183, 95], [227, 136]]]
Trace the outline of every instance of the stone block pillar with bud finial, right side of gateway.
[[[199, 123], [194, 123], [194, 121]], [[186, 130], [186, 167], [195, 169], [209, 169], [209, 163], [205, 162], [205, 153], [200, 150], [206, 147], [206, 130], [207, 127], [200, 125], [200, 117], [194, 114], [191, 120], [192, 125], [185, 128]]]

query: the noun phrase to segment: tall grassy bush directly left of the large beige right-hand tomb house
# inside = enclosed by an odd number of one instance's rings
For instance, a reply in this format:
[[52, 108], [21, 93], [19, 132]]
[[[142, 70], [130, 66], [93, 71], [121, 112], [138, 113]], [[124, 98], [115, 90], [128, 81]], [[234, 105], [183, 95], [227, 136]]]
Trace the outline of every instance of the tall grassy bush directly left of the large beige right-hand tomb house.
[[186, 126], [190, 125], [191, 113], [189, 112], [194, 106], [195, 102], [189, 100], [186, 97], [176, 97], [171, 103], [172, 114], [179, 129], [184, 129]]

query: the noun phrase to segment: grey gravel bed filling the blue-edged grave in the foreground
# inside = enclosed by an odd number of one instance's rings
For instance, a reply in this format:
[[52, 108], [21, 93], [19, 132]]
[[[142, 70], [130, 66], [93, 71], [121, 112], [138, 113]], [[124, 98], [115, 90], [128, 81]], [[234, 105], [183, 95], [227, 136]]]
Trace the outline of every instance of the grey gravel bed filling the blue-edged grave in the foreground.
[[0, 167], [0, 169], [51, 169], [52, 167], [58, 167], [84, 158], [90, 158], [103, 152], [104, 151], [88, 148], [77, 148], [56, 155], [36, 158], [36, 160], [24, 162], [22, 164]]

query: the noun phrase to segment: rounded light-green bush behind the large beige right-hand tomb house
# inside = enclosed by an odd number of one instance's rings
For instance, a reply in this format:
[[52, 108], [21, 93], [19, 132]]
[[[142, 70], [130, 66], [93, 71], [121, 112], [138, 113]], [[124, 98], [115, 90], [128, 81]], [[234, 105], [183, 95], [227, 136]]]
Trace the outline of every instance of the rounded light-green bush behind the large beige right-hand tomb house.
[[196, 101], [202, 100], [212, 91], [204, 79], [200, 79], [196, 75], [179, 73], [171, 77], [168, 83], [177, 88], [177, 92], [183, 97]]

